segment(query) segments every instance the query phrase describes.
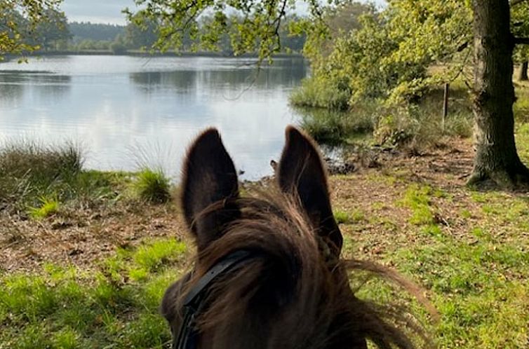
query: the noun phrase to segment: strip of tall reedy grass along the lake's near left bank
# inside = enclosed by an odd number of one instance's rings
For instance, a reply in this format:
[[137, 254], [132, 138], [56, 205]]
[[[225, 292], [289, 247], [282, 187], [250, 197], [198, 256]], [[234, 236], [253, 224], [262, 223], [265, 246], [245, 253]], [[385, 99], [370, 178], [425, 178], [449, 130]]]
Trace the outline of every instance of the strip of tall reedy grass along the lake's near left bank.
[[0, 207], [10, 214], [45, 219], [60, 213], [60, 207], [86, 210], [137, 199], [166, 203], [169, 179], [148, 167], [138, 173], [86, 170], [83, 150], [73, 143], [0, 146]]

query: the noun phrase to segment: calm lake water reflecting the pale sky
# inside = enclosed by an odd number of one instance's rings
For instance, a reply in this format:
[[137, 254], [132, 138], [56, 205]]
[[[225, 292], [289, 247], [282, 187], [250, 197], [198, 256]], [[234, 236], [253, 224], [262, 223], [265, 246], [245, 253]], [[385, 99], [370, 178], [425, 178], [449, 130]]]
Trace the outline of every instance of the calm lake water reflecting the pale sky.
[[0, 64], [0, 139], [79, 142], [86, 167], [178, 175], [185, 147], [215, 126], [246, 179], [271, 172], [297, 116], [290, 90], [307, 74], [278, 59], [255, 78], [254, 61], [210, 57], [63, 56]]

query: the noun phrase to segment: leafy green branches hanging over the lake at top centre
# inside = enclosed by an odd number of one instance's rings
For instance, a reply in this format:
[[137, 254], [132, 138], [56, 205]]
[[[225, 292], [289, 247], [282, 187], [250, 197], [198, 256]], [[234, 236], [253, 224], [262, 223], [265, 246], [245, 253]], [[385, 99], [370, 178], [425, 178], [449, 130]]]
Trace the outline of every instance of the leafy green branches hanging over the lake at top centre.
[[[310, 11], [316, 13], [319, 3], [310, 2]], [[187, 35], [194, 50], [211, 50], [229, 36], [234, 55], [257, 53], [261, 60], [281, 51], [282, 25], [295, 7], [288, 0], [135, 0], [135, 4], [139, 10], [126, 10], [128, 20], [144, 29], [150, 22], [158, 23], [159, 38], [154, 44], [157, 50], [179, 50], [185, 46]], [[208, 20], [201, 22], [206, 13]]]

